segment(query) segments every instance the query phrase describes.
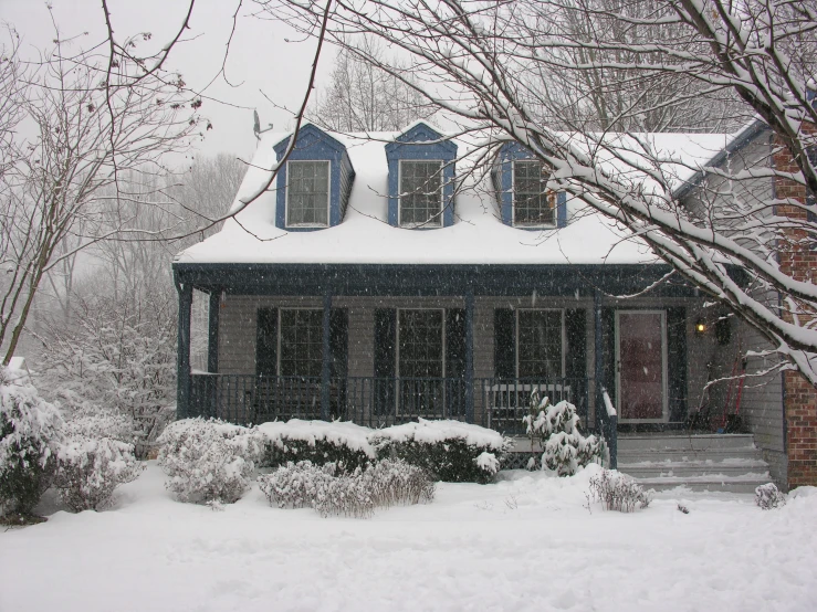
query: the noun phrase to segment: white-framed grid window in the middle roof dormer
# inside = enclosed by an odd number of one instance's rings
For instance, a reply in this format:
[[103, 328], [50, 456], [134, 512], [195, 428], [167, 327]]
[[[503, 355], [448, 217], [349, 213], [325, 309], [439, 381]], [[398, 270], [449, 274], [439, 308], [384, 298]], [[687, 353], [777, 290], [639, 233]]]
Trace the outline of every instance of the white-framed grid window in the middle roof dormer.
[[400, 161], [400, 224], [442, 223], [442, 162]]

